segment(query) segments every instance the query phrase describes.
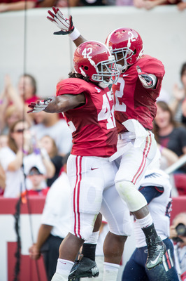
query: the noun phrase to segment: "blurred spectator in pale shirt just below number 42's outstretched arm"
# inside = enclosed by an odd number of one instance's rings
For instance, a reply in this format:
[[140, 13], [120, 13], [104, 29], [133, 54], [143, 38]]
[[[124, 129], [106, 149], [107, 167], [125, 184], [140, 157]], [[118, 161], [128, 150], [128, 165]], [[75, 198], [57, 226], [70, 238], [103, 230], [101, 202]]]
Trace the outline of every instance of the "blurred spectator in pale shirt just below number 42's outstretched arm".
[[41, 111], [34, 113], [34, 117], [37, 124], [31, 126], [31, 132], [38, 141], [48, 135], [55, 140], [59, 155], [64, 156], [71, 151], [71, 130], [64, 119], [59, 119], [58, 113], [48, 114]]

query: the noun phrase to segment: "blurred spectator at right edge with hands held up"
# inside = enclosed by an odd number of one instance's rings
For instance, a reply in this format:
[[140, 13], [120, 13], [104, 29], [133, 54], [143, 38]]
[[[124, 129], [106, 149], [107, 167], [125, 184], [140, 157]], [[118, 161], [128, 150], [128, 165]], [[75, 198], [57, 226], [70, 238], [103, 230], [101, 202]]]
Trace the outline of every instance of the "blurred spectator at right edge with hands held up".
[[183, 100], [186, 98], [186, 63], [183, 63], [180, 70], [180, 80], [182, 83], [182, 87], [179, 88], [178, 84], [173, 86], [173, 101], [170, 104], [171, 110], [173, 112], [173, 117], [177, 122], [183, 122], [183, 112], [182, 105]]

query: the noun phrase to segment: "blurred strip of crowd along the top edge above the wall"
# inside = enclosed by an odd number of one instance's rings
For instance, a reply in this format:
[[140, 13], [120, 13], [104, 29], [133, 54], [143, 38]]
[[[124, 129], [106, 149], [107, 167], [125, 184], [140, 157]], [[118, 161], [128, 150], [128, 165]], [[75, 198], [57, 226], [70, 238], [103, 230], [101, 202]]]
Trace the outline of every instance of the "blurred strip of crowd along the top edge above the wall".
[[0, 13], [19, 11], [25, 8], [80, 7], [80, 6], [134, 6], [150, 10], [159, 5], [176, 5], [179, 11], [186, 8], [185, 0], [3, 0], [0, 1]]

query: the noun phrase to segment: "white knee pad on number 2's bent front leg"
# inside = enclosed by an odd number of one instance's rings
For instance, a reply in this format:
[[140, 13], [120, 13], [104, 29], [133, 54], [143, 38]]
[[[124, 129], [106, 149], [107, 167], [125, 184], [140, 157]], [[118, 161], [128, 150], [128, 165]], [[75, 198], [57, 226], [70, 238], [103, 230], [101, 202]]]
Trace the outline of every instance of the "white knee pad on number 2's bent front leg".
[[129, 211], [138, 211], [148, 204], [145, 197], [130, 181], [118, 181], [115, 183], [115, 188], [120, 197], [127, 203]]

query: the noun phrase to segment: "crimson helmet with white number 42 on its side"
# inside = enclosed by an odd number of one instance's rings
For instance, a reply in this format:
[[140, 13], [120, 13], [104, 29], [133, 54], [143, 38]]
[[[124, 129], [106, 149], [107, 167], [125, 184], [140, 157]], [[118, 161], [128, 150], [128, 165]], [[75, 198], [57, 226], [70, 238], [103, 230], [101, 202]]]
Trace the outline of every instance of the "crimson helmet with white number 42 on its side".
[[98, 41], [80, 44], [73, 55], [73, 66], [76, 72], [98, 82], [102, 88], [116, 83], [120, 75], [114, 56]]

